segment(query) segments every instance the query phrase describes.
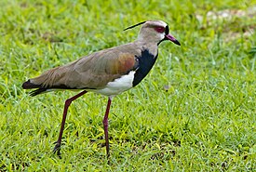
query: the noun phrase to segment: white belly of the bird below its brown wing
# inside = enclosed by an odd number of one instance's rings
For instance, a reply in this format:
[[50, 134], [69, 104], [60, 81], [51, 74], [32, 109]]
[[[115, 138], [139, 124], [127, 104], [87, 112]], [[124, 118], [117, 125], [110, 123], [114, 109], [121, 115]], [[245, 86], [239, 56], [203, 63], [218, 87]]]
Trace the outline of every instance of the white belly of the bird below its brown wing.
[[134, 79], [134, 71], [129, 72], [126, 75], [123, 75], [120, 78], [115, 79], [113, 82], [110, 82], [102, 89], [90, 89], [88, 91], [92, 91], [95, 93], [100, 93], [105, 96], [115, 96], [124, 91], [127, 91], [132, 87], [132, 82]]

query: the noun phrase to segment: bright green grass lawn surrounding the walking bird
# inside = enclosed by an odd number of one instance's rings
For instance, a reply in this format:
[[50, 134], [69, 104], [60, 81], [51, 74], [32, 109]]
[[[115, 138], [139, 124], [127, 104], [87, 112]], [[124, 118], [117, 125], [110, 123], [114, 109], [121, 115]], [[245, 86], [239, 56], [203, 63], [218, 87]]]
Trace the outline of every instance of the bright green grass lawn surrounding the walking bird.
[[[255, 170], [255, 6], [231, 0], [0, 1], [0, 171]], [[22, 82], [128, 43], [139, 29], [124, 28], [155, 19], [168, 22], [182, 46], [162, 43], [152, 72], [114, 99], [111, 165], [101, 124], [107, 99], [92, 93], [71, 105], [62, 159], [52, 154], [64, 100], [75, 93], [32, 98]]]

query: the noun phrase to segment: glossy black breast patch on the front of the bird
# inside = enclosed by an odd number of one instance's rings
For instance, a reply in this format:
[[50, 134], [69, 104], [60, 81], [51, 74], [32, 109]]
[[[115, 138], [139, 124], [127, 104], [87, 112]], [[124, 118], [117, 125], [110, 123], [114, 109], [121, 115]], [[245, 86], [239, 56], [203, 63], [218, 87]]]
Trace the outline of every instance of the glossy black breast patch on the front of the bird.
[[141, 80], [147, 75], [147, 73], [150, 72], [155, 64], [157, 55], [154, 57], [154, 55], [151, 54], [148, 49], [141, 51], [141, 57], [137, 57], [139, 60], [139, 68], [134, 74], [132, 86], [137, 86], [141, 82]]

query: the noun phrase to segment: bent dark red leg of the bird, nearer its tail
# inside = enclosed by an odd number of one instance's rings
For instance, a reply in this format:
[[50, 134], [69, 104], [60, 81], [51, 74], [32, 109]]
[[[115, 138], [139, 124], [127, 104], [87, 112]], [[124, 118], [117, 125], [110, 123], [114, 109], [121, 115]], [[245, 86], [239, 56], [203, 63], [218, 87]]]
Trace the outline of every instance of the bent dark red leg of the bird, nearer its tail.
[[64, 126], [65, 126], [68, 108], [69, 108], [70, 104], [72, 103], [72, 101], [74, 101], [74, 99], [80, 98], [81, 96], [83, 96], [86, 93], [87, 93], [87, 91], [84, 90], [84, 91], [80, 92], [79, 94], [75, 95], [74, 97], [67, 99], [65, 101], [63, 117], [62, 117], [62, 122], [61, 122], [61, 131], [59, 134], [59, 139], [55, 142], [55, 147], [53, 149], [53, 152], [54, 153], [57, 152], [57, 155], [59, 155], [60, 157], [61, 157], [61, 139], [62, 139], [62, 134], [63, 134]]

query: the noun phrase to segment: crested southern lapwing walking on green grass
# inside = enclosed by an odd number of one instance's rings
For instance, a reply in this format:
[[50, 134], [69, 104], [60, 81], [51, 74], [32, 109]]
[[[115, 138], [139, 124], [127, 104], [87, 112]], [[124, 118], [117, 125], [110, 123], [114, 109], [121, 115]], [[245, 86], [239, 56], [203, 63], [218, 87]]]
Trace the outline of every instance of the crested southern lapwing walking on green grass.
[[143, 21], [128, 27], [125, 31], [139, 25], [141, 30], [134, 42], [103, 49], [69, 64], [50, 69], [23, 83], [24, 89], [36, 88], [31, 92], [31, 96], [63, 89], [82, 90], [65, 101], [61, 131], [54, 147], [54, 152], [58, 155], [61, 155], [61, 138], [70, 104], [74, 99], [91, 91], [108, 97], [103, 126], [106, 154], [109, 157], [108, 114], [112, 99], [137, 86], [149, 73], [157, 59], [158, 45], [162, 41], [169, 40], [181, 46], [169, 33], [168, 24], [162, 20]]

